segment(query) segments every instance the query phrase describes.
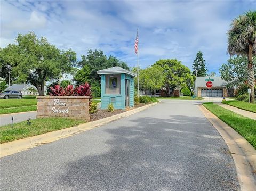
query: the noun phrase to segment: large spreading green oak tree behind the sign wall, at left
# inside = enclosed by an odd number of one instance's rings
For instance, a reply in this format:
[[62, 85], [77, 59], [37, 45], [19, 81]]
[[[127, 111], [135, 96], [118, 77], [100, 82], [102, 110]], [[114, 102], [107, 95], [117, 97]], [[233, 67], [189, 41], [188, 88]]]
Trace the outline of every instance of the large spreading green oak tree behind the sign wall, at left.
[[12, 80], [33, 84], [39, 95], [44, 95], [47, 80], [72, 72], [76, 62], [74, 51], [60, 51], [45, 37], [37, 38], [34, 32], [19, 34], [15, 44], [9, 44], [0, 52], [1, 69], [10, 64]]

